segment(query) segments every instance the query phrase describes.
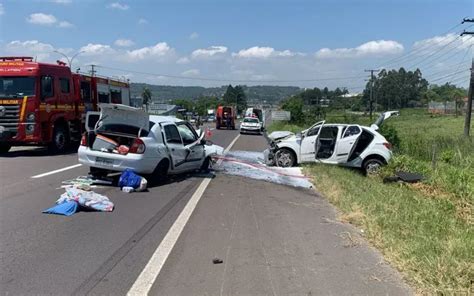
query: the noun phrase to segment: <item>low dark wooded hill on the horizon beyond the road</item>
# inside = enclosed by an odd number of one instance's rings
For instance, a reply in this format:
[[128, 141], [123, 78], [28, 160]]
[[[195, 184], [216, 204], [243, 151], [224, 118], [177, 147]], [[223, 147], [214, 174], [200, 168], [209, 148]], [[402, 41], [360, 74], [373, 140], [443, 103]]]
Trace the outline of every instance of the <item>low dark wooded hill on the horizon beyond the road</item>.
[[[152, 93], [152, 100], [155, 102], [168, 102], [174, 99], [196, 99], [200, 96], [215, 96], [221, 98], [227, 85], [221, 87], [201, 87], [201, 86], [169, 86], [169, 85], [153, 85], [146, 83], [132, 83], [131, 93], [132, 97], [141, 96], [144, 87], [148, 87]], [[242, 86], [247, 101], [252, 103], [274, 104], [280, 100], [297, 94], [302, 91], [296, 86]]]

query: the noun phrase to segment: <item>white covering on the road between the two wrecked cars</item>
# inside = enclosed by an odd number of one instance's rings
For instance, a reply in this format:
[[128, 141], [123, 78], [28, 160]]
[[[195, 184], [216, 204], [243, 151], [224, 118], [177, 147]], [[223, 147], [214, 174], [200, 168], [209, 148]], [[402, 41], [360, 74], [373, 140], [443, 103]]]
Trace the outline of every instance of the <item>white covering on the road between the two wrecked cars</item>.
[[217, 170], [225, 174], [294, 187], [314, 187], [299, 167], [279, 168], [265, 165], [263, 152], [229, 151], [222, 159]]

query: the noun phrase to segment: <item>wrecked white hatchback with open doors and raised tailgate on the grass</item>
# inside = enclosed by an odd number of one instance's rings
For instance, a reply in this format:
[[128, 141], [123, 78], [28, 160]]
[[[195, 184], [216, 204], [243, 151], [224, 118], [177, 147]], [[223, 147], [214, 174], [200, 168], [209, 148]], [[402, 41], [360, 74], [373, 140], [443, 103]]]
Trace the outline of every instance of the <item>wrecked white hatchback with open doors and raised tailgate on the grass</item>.
[[388, 111], [368, 126], [318, 122], [301, 133], [273, 132], [271, 147], [265, 150], [268, 165], [291, 167], [300, 163], [321, 162], [377, 171], [392, 157], [391, 144], [378, 129], [398, 111]]

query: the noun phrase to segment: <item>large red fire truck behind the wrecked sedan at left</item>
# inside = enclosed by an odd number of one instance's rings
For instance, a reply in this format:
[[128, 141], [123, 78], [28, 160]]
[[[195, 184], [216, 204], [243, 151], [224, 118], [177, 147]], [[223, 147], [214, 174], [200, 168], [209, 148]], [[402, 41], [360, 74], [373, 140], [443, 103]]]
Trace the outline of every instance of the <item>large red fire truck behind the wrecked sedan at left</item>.
[[98, 103], [130, 105], [129, 84], [72, 73], [61, 61], [0, 57], [0, 153], [26, 145], [63, 152], [80, 140], [85, 113]]

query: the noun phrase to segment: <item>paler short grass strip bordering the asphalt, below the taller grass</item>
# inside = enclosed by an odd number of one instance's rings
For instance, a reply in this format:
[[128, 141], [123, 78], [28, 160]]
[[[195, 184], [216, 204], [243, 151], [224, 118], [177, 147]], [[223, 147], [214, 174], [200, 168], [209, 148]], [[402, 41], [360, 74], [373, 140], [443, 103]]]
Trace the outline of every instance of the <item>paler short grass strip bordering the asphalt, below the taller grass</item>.
[[418, 293], [470, 292], [474, 231], [459, 215], [455, 200], [335, 166], [315, 164], [304, 171], [340, 209], [342, 220], [364, 229]]

